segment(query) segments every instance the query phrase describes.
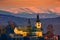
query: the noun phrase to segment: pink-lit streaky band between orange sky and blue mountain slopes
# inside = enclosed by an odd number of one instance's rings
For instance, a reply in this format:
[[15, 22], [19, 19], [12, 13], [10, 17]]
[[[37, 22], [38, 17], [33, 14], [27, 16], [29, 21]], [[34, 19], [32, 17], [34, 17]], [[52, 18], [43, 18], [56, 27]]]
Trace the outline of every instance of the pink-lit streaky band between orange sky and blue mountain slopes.
[[14, 14], [21, 13], [21, 12], [26, 12], [29, 14], [32, 13], [46, 13], [48, 10], [51, 10], [52, 12], [56, 12], [60, 14], [60, 7], [55, 7], [55, 8], [38, 8], [38, 7], [22, 7], [22, 8], [9, 8], [9, 9], [2, 9], [8, 12], [12, 12]]

